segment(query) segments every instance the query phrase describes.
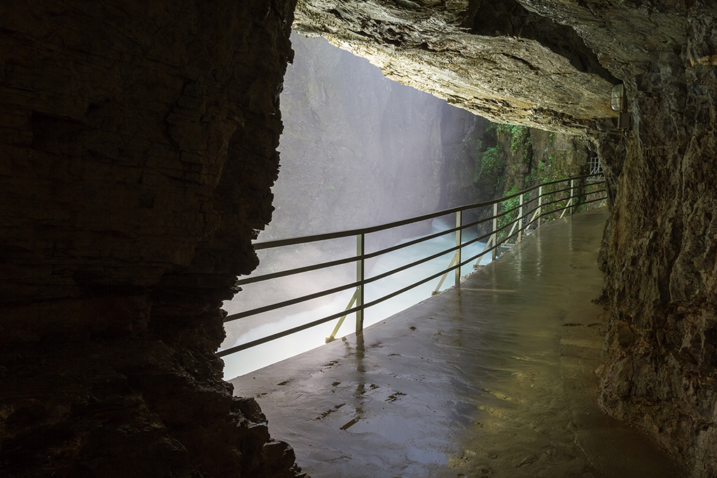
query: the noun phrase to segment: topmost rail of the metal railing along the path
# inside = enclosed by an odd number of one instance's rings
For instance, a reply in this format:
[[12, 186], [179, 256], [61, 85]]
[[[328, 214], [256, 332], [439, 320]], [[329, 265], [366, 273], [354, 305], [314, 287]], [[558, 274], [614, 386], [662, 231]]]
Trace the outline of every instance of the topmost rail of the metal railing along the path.
[[373, 234], [374, 232], [385, 231], [386, 229], [393, 229], [394, 227], [407, 226], [408, 224], [426, 221], [427, 219], [435, 219], [440, 216], [447, 216], [447, 214], [455, 214], [458, 211], [466, 211], [467, 209], [478, 209], [479, 207], [492, 206], [493, 204], [502, 203], [503, 201], [508, 201], [509, 199], [521, 196], [521, 194], [532, 193], [538, 188], [550, 186], [551, 184], [562, 183], [564, 181], [569, 180], [575, 181], [576, 179], [587, 179], [594, 176], [594, 174], [585, 174], [583, 176], [556, 179], [555, 181], [548, 181], [546, 183], [540, 183], [531, 188], [523, 189], [523, 191], [518, 191], [517, 193], [511, 194], [510, 196], [504, 196], [500, 199], [493, 199], [491, 201], [485, 201], [483, 203], [465, 204], [464, 206], [457, 206], [450, 209], [444, 209], [443, 211], [423, 214], [422, 216], [415, 216], [409, 219], [402, 219], [400, 221], [379, 224], [377, 226], [362, 227], [360, 229], [349, 229], [348, 231], [327, 232], [326, 234], [313, 234], [311, 236], [289, 237], [287, 239], [272, 239], [271, 241], [254, 242], [252, 243], [252, 246], [254, 246], [255, 251], [259, 251], [261, 249], [272, 249], [274, 247], [294, 246], [296, 244], [308, 244], [309, 242], [328, 241], [329, 239], [341, 239], [342, 237], [358, 236], [359, 234]]

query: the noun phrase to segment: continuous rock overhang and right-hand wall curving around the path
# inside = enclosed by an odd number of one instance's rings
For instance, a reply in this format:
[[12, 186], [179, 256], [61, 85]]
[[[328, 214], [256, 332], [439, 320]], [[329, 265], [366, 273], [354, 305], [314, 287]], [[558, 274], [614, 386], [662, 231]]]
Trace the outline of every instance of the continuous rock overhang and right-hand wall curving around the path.
[[[717, 476], [716, 7], [699, 0], [301, 0], [295, 28], [488, 118], [573, 132], [606, 170], [602, 403]], [[630, 128], [609, 90], [623, 82]]]

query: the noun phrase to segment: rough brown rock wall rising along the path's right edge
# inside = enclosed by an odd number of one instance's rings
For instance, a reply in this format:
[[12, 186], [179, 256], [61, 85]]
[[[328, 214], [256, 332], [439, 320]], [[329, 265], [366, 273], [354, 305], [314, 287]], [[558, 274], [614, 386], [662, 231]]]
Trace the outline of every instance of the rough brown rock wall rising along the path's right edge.
[[634, 127], [606, 153], [617, 188], [605, 267], [604, 404], [717, 476], [716, 12], [693, 9], [680, 51], [630, 77]]

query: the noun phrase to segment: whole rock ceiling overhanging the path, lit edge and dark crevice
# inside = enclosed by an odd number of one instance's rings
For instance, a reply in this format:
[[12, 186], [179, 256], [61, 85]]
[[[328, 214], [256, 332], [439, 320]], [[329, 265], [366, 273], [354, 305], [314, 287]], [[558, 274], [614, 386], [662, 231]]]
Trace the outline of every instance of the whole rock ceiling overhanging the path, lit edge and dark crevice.
[[611, 87], [684, 42], [683, 1], [300, 0], [293, 28], [500, 123], [611, 130]]

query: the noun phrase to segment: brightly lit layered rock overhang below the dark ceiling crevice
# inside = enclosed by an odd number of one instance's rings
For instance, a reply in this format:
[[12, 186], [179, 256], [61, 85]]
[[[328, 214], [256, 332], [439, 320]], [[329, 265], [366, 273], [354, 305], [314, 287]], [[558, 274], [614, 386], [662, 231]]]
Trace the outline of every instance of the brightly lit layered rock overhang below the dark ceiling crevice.
[[294, 28], [500, 123], [577, 133], [616, 116], [617, 80], [574, 29], [516, 1], [300, 0]]

